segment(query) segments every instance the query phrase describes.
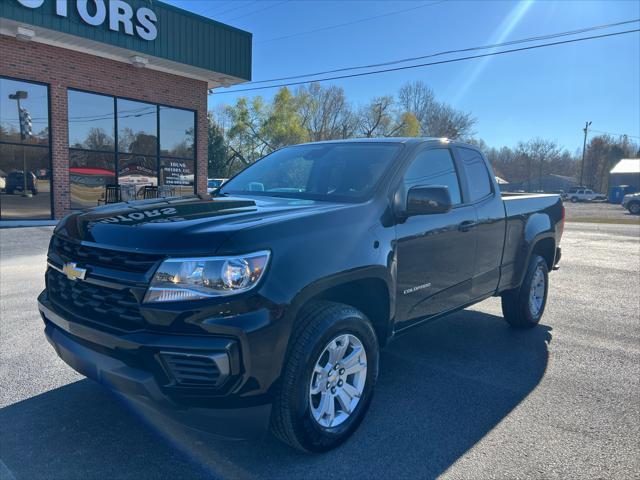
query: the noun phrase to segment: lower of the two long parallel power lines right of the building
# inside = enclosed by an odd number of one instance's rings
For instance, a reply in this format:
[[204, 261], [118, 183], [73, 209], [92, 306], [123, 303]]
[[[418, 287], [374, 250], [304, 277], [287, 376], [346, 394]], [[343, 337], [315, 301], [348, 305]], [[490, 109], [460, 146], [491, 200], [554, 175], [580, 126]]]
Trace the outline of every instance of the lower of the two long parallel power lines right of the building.
[[544, 47], [552, 47], [552, 46], [556, 46], [556, 45], [564, 45], [564, 44], [568, 44], [568, 43], [576, 43], [576, 42], [582, 42], [585, 40], [593, 40], [593, 39], [597, 39], [597, 38], [606, 38], [606, 37], [614, 37], [617, 35], [625, 35], [627, 33], [634, 33], [634, 32], [640, 32], [640, 29], [634, 29], [634, 30], [623, 30], [621, 32], [614, 32], [614, 33], [604, 33], [602, 35], [592, 35], [589, 37], [581, 37], [581, 38], [572, 38], [569, 40], [562, 40], [559, 42], [551, 42], [551, 43], [542, 43], [540, 45], [530, 45], [528, 47], [521, 47], [521, 48], [513, 48], [510, 50], [502, 50], [500, 52], [491, 52], [491, 53], [483, 53], [480, 55], [469, 55], [466, 57], [459, 57], [459, 58], [452, 58], [452, 59], [448, 59], [448, 60], [439, 60], [437, 62], [429, 62], [429, 63], [420, 63], [417, 65], [406, 65], [406, 66], [402, 66], [402, 67], [394, 67], [394, 68], [387, 68], [387, 69], [382, 69], [382, 70], [374, 70], [373, 72], [361, 72], [361, 73], [352, 73], [349, 75], [337, 75], [334, 77], [325, 77], [325, 78], [320, 78], [317, 80], [302, 80], [299, 82], [288, 82], [288, 83], [281, 83], [281, 84], [277, 84], [277, 85], [266, 85], [263, 87], [251, 87], [251, 88], [243, 88], [243, 89], [239, 89], [239, 90], [226, 90], [226, 91], [221, 91], [221, 92], [213, 92], [210, 91], [211, 94], [213, 95], [219, 95], [219, 94], [225, 94], [225, 93], [239, 93], [239, 92], [249, 92], [249, 91], [254, 91], [254, 90], [266, 90], [268, 88], [279, 88], [279, 87], [290, 87], [290, 86], [294, 86], [294, 85], [303, 85], [305, 83], [314, 83], [314, 82], [327, 82], [330, 80], [342, 80], [345, 78], [354, 78], [354, 77], [364, 77], [367, 75], [376, 75], [379, 73], [388, 73], [388, 72], [397, 72], [397, 71], [401, 71], [401, 70], [410, 70], [413, 68], [422, 68], [422, 67], [430, 67], [433, 65], [443, 65], [446, 63], [455, 63], [455, 62], [462, 62], [465, 60], [472, 60], [475, 58], [485, 58], [485, 57], [492, 57], [494, 55], [503, 55], [505, 53], [514, 53], [514, 52], [523, 52], [526, 50], [534, 50], [534, 49], [538, 49], [538, 48], [544, 48]]

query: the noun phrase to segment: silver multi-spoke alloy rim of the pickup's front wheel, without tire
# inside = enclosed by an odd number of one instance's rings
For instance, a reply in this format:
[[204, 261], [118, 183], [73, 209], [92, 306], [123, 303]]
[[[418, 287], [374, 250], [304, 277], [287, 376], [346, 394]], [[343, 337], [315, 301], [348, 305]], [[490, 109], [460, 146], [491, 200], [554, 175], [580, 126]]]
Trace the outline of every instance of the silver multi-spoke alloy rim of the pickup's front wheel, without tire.
[[351, 334], [331, 340], [311, 374], [309, 406], [321, 427], [336, 427], [355, 410], [367, 380], [367, 354]]

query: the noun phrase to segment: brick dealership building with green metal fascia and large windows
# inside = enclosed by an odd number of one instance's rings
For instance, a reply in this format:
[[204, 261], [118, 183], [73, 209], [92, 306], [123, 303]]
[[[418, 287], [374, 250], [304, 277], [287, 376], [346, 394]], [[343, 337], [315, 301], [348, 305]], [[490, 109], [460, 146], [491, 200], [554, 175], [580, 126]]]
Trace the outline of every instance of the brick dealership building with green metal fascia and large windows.
[[208, 90], [251, 34], [157, 0], [0, 1], [0, 225], [206, 193]]

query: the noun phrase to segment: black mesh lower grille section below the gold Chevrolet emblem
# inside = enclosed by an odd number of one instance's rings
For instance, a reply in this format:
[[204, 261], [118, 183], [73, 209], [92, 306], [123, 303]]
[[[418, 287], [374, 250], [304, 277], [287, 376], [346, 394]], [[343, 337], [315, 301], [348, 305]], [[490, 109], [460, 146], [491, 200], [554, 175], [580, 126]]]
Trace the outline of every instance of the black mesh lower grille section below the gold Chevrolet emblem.
[[49, 268], [47, 293], [56, 306], [73, 315], [122, 330], [139, 329], [144, 325], [136, 298], [128, 290], [100, 287]]

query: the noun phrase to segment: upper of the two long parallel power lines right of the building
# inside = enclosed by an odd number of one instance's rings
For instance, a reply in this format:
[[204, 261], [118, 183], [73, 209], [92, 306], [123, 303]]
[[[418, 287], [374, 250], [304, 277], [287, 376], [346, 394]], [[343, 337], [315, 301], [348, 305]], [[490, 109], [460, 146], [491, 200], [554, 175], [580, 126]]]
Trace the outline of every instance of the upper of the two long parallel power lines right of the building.
[[384, 66], [388, 66], [388, 65], [395, 65], [398, 63], [406, 63], [406, 62], [413, 62], [416, 60], [423, 60], [425, 58], [433, 58], [433, 57], [439, 57], [442, 55], [450, 55], [452, 53], [463, 53], [463, 52], [470, 52], [470, 51], [475, 51], [475, 50], [487, 50], [487, 49], [491, 49], [491, 48], [498, 48], [498, 47], [506, 47], [508, 45], [517, 45], [520, 43], [527, 43], [527, 42], [533, 42], [533, 41], [538, 41], [538, 40], [549, 40], [552, 38], [558, 38], [558, 37], [566, 37], [566, 36], [571, 36], [571, 35], [578, 35], [580, 33], [586, 33], [586, 32], [590, 32], [590, 31], [594, 31], [594, 30], [602, 30], [605, 28], [611, 28], [611, 27], [617, 27], [620, 25], [626, 25], [629, 23], [636, 23], [636, 22], [640, 22], [640, 19], [635, 19], [635, 20], [626, 20], [623, 22], [617, 22], [617, 23], [607, 23], [607, 24], [602, 24], [602, 25], [595, 25], [592, 27], [585, 27], [585, 28], [581, 28], [578, 30], [570, 30], [570, 31], [566, 31], [566, 32], [559, 32], [559, 33], [550, 33], [547, 35], [539, 35], [536, 37], [528, 37], [528, 38], [521, 38], [518, 40], [510, 40], [508, 42], [503, 42], [503, 43], [495, 43], [492, 45], [483, 45], [483, 46], [479, 46], [479, 47], [468, 47], [468, 48], [461, 48], [461, 49], [457, 49], [457, 50], [446, 50], [446, 51], [442, 51], [442, 52], [437, 52], [437, 53], [431, 53], [428, 55], [421, 55], [418, 57], [409, 57], [409, 58], [403, 58], [401, 60], [391, 60], [388, 62], [382, 62], [382, 63], [373, 63], [370, 65], [360, 65], [360, 66], [356, 66], [356, 67], [344, 67], [344, 68], [337, 68], [334, 70], [325, 70], [323, 72], [315, 72], [315, 73], [307, 73], [307, 74], [299, 74], [299, 75], [292, 75], [289, 77], [280, 77], [280, 78], [271, 78], [269, 80], [257, 80], [254, 82], [249, 82], [246, 85], [257, 85], [257, 84], [261, 84], [261, 83], [271, 83], [271, 82], [281, 82], [284, 80], [294, 80], [297, 78], [305, 78], [305, 77], [315, 77], [315, 76], [319, 76], [319, 75], [328, 75], [331, 73], [339, 73], [339, 72], [346, 72], [346, 71], [350, 71], [350, 70], [361, 70], [361, 69], [365, 69], [365, 68], [375, 68], [375, 67], [384, 67]]

